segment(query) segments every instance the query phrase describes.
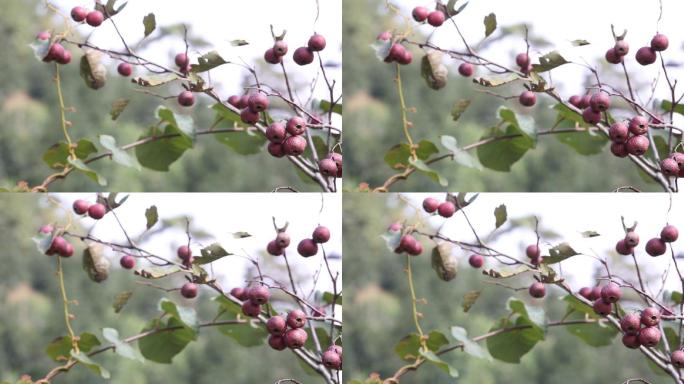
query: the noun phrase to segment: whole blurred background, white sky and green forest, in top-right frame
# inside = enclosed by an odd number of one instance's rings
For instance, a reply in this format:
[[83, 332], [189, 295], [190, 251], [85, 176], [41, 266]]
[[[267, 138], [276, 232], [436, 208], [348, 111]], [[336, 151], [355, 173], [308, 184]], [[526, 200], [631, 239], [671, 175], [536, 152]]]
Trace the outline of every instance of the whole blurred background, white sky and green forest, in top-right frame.
[[[415, 6], [433, 6], [431, 1], [420, 0], [395, 0], [389, 3], [396, 5], [402, 16], [409, 17]], [[464, 1], [457, 5], [462, 3]], [[662, 69], [659, 65], [641, 67], [633, 56], [639, 47], [648, 44], [659, 29], [670, 38], [670, 48], [665, 52], [665, 57], [672, 64], [671, 76], [674, 79], [682, 77], [684, 51], [679, 33], [680, 18], [677, 15], [684, 10], [684, 5], [676, 0], [663, 0], [663, 17], [658, 24], [658, 3], [636, 0], [471, 1], [463, 13], [456, 16], [455, 21], [467, 40], [475, 45], [484, 37], [484, 17], [494, 12], [498, 30], [478, 48], [485, 57], [506, 64], [514, 64], [515, 55], [525, 50], [522, 25], [527, 25], [533, 60], [558, 49], [568, 60], [598, 67], [603, 79], [623, 88], [623, 75], [618, 72], [618, 66], [609, 66], [603, 59], [605, 51], [613, 44], [610, 26], [614, 24], [617, 33], [628, 30], [627, 41], [631, 51], [627, 68], [634, 88], [639, 90], [640, 99], [649, 99], [652, 81], [659, 77], [656, 99], [662, 100], [669, 97], [663, 75], [659, 75]], [[343, 52], [347, 58], [344, 65], [345, 122], [351, 127], [350, 132], [353, 132], [345, 138], [345, 186], [354, 189], [359, 183], [367, 182], [374, 187], [396, 172], [385, 164], [383, 157], [393, 145], [403, 141], [404, 136], [393, 80], [394, 65], [379, 62], [370, 45], [380, 32], [404, 31], [408, 24], [404, 18], [388, 11], [384, 0], [345, 1], [343, 10]], [[411, 19], [410, 25], [414, 27], [414, 40], [420, 41], [430, 36], [432, 42], [443, 48], [463, 50], [463, 44], [450, 23], [435, 29], [429, 25], [418, 26]], [[570, 41], [575, 39], [585, 39], [591, 44], [571, 47]], [[433, 91], [420, 76], [422, 55], [415, 47], [411, 50], [414, 60], [411, 65], [402, 67], [402, 81], [407, 106], [416, 108], [415, 113], [409, 113], [409, 119], [414, 124], [414, 139], [433, 141], [442, 152], [445, 150], [439, 144], [441, 135], [456, 137], [460, 146], [476, 142], [497, 122], [496, 110], [499, 105], [531, 115], [540, 130], [551, 128], [555, 122], [555, 114], [549, 110], [551, 101], [548, 98], [539, 97], [534, 108], [525, 109], [518, 105], [517, 100], [504, 101], [476, 92], [472, 79], [458, 75], [460, 62], [456, 60], [445, 59], [450, 73], [448, 85], [440, 91]], [[481, 70], [476, 71], [476, 75], [478, 73]], [[569, 97], [581, 92], [589, 84], [591, 79], [588, 75], [590, 73], [580, 65], [564, 65], [553, 71], [553, 85], [561, 95]], [[521, 86], [496, 88], [495, 91], [503, 95], [517, 95]], [[472, 99], [473, 102], [455, 123], [450, 111], [460, 99]], [[681, 117], [678, 122], [682, 122]], [[508, 173], [489, 169], [478, 171], [449, 161], [435, 164], [433, 168], [449, 180], [449, 190], [459, 191], [610, 191], [624, 185], [638, 186], [645, 191], [658, 190], [657, 185], [647, 184], [642, 179], [630, 161], [612, 156], [609, 146], [605, 146], [600, 154], [584, 156], [562, 144], [555, 136], [541, 137], [537, 147], [528, 151]], [[412, 175], [408, 181], [395, 184], [393, 191], [429, 192], [443, 189], [423, 175]]]

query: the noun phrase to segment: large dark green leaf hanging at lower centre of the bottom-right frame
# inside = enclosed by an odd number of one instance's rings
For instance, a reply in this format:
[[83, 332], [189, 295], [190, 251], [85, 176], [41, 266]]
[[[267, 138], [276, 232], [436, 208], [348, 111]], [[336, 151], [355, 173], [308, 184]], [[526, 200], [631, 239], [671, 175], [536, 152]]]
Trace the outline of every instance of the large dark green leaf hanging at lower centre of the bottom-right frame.
[[512, 327], [526, 327], [498, 333], [487, 339], [489, 354], [507, 363], [520, 363], [527, 352], [532, 350], [537, 342], [544, 339], [544, 331], [524, 316], [518, 316], [514, 321], [507, 318], [500, 319], [489, 331], [496, 332]]

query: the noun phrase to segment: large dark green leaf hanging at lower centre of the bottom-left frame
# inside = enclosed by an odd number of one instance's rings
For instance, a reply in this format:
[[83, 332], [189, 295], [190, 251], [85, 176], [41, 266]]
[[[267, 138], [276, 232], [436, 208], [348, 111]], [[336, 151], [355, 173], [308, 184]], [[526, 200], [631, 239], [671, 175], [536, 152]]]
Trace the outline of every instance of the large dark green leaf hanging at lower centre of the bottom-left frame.
[[142, 332], [172, 327], [178, 327], [178, 329], [152, 333], [138, 340], [138, 347], [143, 357], [155, 363], [171, 364], [174, 356], [182, 352], [197, 337], [195, 331], [184, 326], [176, 317], [169, 318], [168, 322], [153, 319]]

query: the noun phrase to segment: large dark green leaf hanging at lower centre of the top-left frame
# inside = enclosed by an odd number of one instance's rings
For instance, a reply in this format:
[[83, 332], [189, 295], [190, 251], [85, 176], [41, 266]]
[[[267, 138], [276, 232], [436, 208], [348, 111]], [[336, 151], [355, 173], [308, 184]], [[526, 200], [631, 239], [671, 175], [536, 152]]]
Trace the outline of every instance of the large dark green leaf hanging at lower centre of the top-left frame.
[[[154, 139], [156, 137], [162, 138]], [[145, 168], [160, 172], [168, 172], [169, 166], [192, 148], [192, 140], [171, 125], [167, 125], [163, 132], [152, 127], [139, 140], [150, 142], [135, 147], [138, 162]]]

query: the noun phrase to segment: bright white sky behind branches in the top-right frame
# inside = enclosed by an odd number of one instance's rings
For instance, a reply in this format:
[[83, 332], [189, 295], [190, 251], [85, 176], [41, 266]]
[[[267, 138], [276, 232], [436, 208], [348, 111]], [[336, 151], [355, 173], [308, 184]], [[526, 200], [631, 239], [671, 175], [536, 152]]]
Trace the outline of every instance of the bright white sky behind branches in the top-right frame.
[[[460, 0], [457, 5], [466, 0]], [[425, 0], [393, 0], [400, 4], [406, 15], [418, 5], [431, 7], [433, 2]], [[446, 1], [445, 1], [446, 3]], [[627, 68], [633, 81], [637, 80], [645, 85], [640, 88], [640, 95], [647, 99], [650, 95], [648, 85], [659, 72], [662, 72], [659, 62], [642, 67], [634, 59], [637, 49], [649, 45], [651, 38], [659, 29], [670, 40], [670, 47], [664, 52], [667, 62], [682, 64], [679, 68], [672, 68], [671, 76], [681, 79], [684, 75], [684, 35], [682, 34], [681, 16], [684, 14], [684, 2], [681, 0], [663, 0], [663, 18], [658, 28], [659, 14], [658, 1], [642, 0], [573, 0], [573, 1], [535, 1], [535, 0], [472, 0], [463, 13], [455, 17], [459, 28], [466, 36], [466, 40], [475, 45], [484, 37], [483, 20], [486, 15], [494, 12], [499, 26], [514, 25], [524, 22], [531, 26], [532, 33], [544, 37], [563, 56], [573, 62], [588, 62], [592, 66], [597, 65], [597, 59], [605, 63], [603, 56], [606, 50], [613, 46], [613, 37], [610, 25], [614, 24], [616, 32], [621, 34], [627, 29], [626, 40], [630, 44]], [[415, 25], [415, 24], [414, 24]], [[440, 28], [429, 25], [420, 27], [425, 33], [436, 31], [433, 42], [442, 47], [463, 49], [463, 44], [458, 38], [455, 29], [450, 23], [445, 23]], [[496, 33], [496, 32], [495, 32]], [[569, 42], [575, 39], [585, 39], [591, 45], [584, 47], [571, 47]], [[533, 63], [540, 54], [547, 53], [550, 48], [535, 52], [532, 47]], [[515, 65], [515, 54], [525, 50], [525, 43], [521, 36], [514, 36], [498, 41], [484, 51], [485, 57], [494, 61]], [[616, 66], [616, 68], [619, 68]], [[455, 72], [455, 68], [452, 67]], [[668, 70], [669, 71], [669, 70]], [[581, 80], [587, 71], [577, 65], [565, 65], [553, 71], [553, 80], [560, 85], [561, 94], [568, 97], [572, 93], [582, 91]], [[681, 83], [681, 81], [680, 81]], [[626, 91], [622, 77], [619, 82], [611, 82], [619, 85]], [[572, 92], [572, 93], [571, 93]], [[684, 92], [684, 87], [678, 87], [679, 97]], [[657, 98], [669, 98], [669, 88], [661, 74]], [[681, 120], [680, 120], [681, 121]]]

